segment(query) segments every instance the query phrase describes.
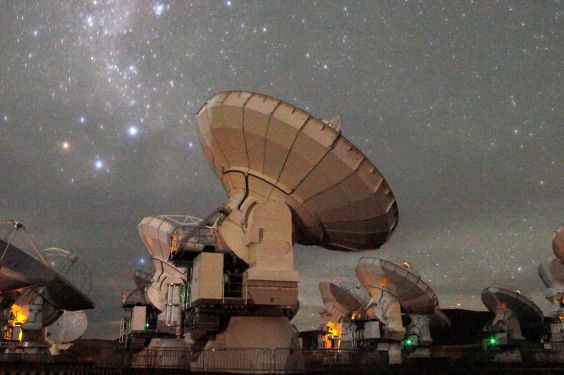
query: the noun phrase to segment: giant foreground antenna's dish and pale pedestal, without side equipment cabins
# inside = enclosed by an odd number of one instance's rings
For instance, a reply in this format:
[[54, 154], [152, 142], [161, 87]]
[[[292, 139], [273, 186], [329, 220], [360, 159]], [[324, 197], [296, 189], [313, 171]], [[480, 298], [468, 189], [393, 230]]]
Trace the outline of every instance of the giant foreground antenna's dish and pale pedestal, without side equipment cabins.
[[226, 342], [248, 330], [252, 338], [244, 341], [255, 347], [292, 348], [297, 339], [284, 311], [297, 303], [293, 245], [379, 248], [398, 222], [394, 195], [341, 135], [338, 119], [229, 91], [208, 100], [197, 122], [204, 154], [229, 196], [214, 225], [217, 248], [244, 263], [244, 299], [264, 307], [263, 316], [232, 318]]

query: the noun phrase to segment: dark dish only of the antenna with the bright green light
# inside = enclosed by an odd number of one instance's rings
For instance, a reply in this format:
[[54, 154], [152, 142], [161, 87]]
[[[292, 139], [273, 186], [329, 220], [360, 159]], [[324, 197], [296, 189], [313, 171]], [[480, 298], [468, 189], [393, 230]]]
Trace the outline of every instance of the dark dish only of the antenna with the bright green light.
[[489, 287], [482, 291], [482, 302], [498, 315], [510, 311], [519, 320], [521, 328], [534, 328], [542, 325], [543, 313], [529, 298], [513, 290]]

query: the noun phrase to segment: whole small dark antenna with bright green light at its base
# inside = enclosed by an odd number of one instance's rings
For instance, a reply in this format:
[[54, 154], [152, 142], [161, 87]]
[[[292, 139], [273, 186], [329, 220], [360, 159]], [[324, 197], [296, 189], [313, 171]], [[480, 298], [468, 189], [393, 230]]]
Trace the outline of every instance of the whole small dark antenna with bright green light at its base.
[[[482, 291], [482, 302], [495, 314], [494, 319], [486, 326], [486, 347], [524, 342], [522, 329], [542, 327], [541, 309], [520, 291], [489, 287]], [[520, 361], [521, 354], [519, 349], [509, 349], [495, 360]]]

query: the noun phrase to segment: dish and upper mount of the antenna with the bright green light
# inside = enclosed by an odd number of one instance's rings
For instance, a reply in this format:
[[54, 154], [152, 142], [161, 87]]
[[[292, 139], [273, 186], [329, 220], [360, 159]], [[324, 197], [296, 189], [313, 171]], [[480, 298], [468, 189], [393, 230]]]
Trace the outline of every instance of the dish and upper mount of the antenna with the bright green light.
[[[482, 302], [495, 314], [490, 324], [493, 333], [506, 333], [507, 340], [524, 340], [521, 329], [540, 328], [541, 309], [519, 291], [489, 287], [482, 291]], [[501, 340], [498, 340], [501, 341]]]

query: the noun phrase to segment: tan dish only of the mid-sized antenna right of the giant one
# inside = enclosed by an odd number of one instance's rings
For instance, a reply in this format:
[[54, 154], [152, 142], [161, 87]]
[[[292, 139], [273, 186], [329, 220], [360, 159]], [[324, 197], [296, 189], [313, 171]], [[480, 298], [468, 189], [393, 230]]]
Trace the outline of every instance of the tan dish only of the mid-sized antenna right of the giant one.
[[382, 292], [394, 296], [407, 314], [430, 314], [439, 305], [437, 295], [425, 283], [410, 263], [363, 257], [358, 262], [356, 275], [374, 298]]

